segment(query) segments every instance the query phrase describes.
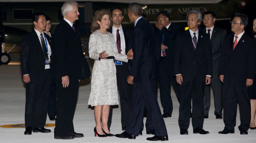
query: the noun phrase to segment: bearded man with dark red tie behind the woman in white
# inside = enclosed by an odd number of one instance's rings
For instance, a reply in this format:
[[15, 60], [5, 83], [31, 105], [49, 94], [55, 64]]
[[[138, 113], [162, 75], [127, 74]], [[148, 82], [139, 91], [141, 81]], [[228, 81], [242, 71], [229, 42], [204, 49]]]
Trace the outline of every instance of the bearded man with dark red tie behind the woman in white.
[[[113, 7], [111, 9], [111, 18], [113, 21], [113, 26], [109, 30], [115, 37], [117, 43], [117, 48], [119, 54], [126, 55], [126, 47], [128, 45], [128, 39], [132, 36], [132, 32], [122, 27], [122, 20], [124, 18], [123, 11], [121, 7]], [[117, 85], [120, 97], [120, 107], [121, 107], [121, 124], [122, 130], [125, 131], [126, 124], [128, 122], [131, 113], [131, 86], [127, 83], [127, 77], [129, 75], [128, 63], [115, 60], [116, 70], [117, 70]], [[113, 106], [109, 108], [109, 120], [108, 127], [110, 128], [112, 122], [112, 112]]]

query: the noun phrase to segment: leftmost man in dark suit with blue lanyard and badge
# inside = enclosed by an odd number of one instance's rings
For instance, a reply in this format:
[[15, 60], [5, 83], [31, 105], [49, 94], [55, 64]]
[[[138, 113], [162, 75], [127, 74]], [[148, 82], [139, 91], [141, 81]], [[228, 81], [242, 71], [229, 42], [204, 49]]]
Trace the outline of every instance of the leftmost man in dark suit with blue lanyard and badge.
[[45, 14], [33, 14], [34, 30], [22, 37], [21, 70], [26, 83], [25, 135], [51, 132], [44, 128], [51, 87], [52, 38], [44, 34]]

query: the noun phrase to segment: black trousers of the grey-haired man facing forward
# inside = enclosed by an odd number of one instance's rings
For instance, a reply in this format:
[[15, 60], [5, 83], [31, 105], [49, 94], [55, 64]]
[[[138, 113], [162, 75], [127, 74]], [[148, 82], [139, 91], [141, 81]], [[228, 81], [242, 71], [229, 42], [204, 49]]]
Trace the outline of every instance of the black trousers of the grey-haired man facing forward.
[[[202, 81], [184, 81], [180, 85], [179, 127], [188, 129], [190, 123], [190, 106], [192, 97], [192, 126], [193, 129], [203, 128], [204, 103], [203, 92], [205, 83]], [[193, 96], [192, 96], [193, 95]]]

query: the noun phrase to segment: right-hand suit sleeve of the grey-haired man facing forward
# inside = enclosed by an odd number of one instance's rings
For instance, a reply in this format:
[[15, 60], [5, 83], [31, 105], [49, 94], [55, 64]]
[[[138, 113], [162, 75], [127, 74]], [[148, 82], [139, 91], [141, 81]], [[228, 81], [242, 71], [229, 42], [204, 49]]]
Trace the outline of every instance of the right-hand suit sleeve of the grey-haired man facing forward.
[[213, 76], [213, 60], [212, 60], [212, 45], [210, 38], [207, 38], [206, 48], [205, 48], [205, 56], [206, 56], [206, 75]]

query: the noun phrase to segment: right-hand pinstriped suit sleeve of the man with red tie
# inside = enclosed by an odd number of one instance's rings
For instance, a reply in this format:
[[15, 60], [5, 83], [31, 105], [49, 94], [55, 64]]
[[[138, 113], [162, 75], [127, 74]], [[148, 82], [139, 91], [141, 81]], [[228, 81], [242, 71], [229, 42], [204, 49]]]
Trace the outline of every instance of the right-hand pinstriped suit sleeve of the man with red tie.
[[255, 49], [256, 49], [256, 40], [255, 39], [251, 39], [251, 45], [249, 47], [249, 51], [248, 51], [248, 73], [246, 78], [248, 79], [254, 79], [255, 76]]

